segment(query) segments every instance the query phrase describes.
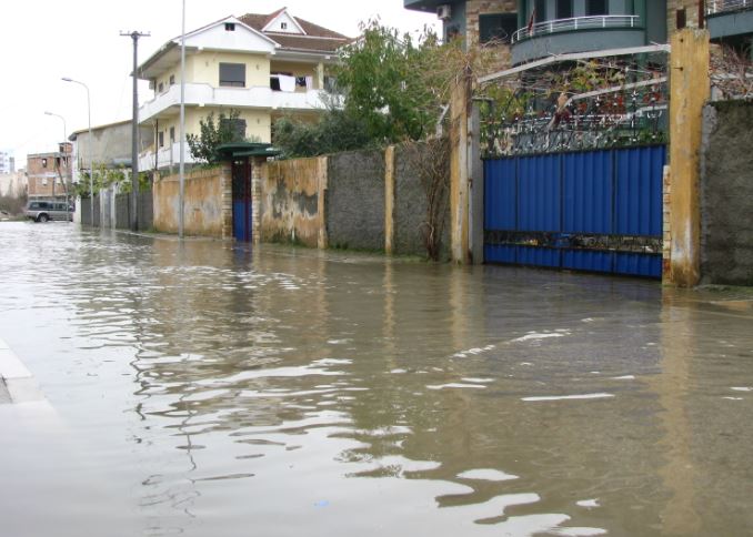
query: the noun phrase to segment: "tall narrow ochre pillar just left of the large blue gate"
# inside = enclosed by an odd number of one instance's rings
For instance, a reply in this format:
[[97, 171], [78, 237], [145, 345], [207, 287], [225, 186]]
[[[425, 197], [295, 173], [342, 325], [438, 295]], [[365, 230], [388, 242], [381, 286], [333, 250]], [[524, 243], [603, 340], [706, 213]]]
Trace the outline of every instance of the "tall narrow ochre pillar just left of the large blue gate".
[[450, 101], [450, 253], [455, 263], [469, 263], [468, 119], [470, 77], [454, 87]]

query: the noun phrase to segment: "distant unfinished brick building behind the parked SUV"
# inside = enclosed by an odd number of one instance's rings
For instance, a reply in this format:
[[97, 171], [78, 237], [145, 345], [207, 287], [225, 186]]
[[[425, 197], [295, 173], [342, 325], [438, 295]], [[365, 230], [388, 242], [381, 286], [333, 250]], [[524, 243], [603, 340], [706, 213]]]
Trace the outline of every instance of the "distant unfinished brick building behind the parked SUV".
[[71, 185], [72, 144], [61, 143], [58, 152], [27, 155], [29, 199], [66, 199]]

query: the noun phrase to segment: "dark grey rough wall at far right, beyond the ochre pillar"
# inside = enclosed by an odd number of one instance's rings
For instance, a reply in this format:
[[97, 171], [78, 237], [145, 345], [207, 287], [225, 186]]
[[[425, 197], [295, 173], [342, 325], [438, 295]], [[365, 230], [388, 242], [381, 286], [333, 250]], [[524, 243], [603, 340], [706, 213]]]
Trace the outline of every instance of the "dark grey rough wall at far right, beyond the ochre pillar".
[[753, 103], [713, 103], [703, 119], [702, 282], [753, 285]]

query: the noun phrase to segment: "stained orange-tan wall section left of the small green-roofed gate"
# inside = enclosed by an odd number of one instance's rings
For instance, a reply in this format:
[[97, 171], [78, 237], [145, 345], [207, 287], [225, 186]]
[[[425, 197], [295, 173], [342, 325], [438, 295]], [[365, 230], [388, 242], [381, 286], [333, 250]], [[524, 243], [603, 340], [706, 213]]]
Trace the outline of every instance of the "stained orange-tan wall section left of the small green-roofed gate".
[[[223, 203], [231, 188], [230, 166], [195, 170], [185, 175], [185, 201], [183, 206], [183, 232], [187, 235], [224, 237], [227, 230], [227, 204]], [[178, 233], [180, 181], [170, 175], [154, 181], [154, 229]]]

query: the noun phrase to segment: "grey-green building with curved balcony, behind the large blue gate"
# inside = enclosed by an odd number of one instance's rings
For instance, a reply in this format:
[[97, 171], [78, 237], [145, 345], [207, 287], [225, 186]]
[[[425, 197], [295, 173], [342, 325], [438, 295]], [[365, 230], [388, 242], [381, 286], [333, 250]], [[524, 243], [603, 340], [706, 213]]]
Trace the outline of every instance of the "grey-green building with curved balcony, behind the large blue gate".
[[665, 43], [685, 27], [707, 27], [714, 42], [753, 43], [753, 0], [404, 0], [404, 7], [435, 10], [445, 33], [470, 45], [501, 37], [510, 65]]

